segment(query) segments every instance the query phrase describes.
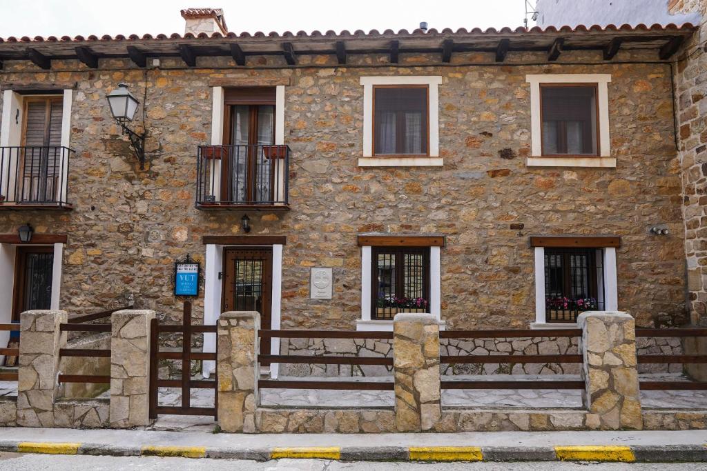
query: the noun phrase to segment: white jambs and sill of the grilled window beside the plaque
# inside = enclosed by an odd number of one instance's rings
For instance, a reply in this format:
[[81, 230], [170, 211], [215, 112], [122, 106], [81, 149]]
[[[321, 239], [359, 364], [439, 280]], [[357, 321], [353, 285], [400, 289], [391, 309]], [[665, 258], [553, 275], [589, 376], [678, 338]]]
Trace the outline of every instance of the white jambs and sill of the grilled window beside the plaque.
[[[372, 280], [371, 266], [373, 246], [361, 246], [361, 320], [356, 321], [356, 330], [393, 330], [393, 321], [371, 318], [370, 304], [373, 293], [370, 291]], [[430, 304], [429, 314], [433, 314], [438, 321], [442, 315], [442, 270], [441, 251], [438, 246], [430, 249]]]

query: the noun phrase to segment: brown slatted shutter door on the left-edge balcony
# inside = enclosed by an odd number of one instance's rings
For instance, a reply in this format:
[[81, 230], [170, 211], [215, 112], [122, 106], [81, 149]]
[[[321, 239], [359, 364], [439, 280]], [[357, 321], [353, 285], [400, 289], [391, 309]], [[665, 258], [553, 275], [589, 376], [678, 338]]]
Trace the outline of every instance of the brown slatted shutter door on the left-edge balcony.
[[57, 199], [62, 169], [62, 97], [25, 98], [18, 200], [45, 203]]

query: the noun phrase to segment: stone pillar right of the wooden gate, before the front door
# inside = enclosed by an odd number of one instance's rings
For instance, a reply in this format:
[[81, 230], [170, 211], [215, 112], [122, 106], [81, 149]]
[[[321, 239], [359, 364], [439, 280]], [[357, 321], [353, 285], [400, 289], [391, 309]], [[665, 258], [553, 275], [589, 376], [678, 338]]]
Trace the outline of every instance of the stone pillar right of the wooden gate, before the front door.
[[223, 431], [257, 431], [259, 328], [256, 311], [224, 312], [218, 318], [216, 381], [218, 425]]

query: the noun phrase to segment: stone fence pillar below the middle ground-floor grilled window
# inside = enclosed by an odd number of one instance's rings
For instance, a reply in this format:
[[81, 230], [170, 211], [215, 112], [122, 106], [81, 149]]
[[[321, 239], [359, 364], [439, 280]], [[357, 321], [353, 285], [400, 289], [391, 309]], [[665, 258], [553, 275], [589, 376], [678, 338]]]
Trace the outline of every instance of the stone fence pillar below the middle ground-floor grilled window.
[[440, 328], [432, 314], [396, 314], [393, 321], [395, 427], [432, 429], [440, 405]]

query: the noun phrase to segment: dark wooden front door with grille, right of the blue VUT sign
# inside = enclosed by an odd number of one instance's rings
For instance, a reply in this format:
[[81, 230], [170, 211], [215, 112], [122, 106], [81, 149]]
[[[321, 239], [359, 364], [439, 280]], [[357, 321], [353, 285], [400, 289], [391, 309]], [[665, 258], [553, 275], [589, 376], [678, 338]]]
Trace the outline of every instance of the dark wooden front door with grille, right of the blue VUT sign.
[[[271, 328], [272, 249], [224, 249], [221, 312], [258, 311], [260, 328]], [[260, 353], [270, 353], [262, 339]]]

